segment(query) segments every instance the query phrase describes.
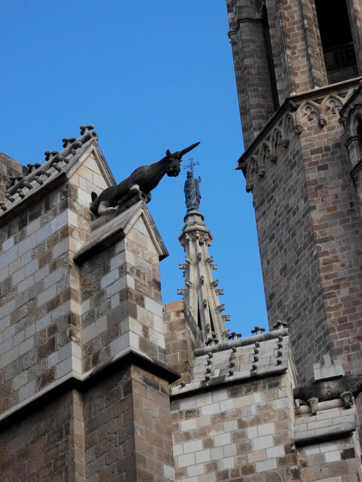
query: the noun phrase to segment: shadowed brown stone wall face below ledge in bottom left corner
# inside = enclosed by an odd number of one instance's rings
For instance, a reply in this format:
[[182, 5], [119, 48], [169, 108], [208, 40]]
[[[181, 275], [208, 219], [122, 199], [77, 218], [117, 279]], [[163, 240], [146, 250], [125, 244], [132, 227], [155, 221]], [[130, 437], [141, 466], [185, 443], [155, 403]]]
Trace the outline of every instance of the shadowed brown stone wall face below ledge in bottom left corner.
[[32, 404], [0, 431], [0, 480], [67, 481], [74, 474], [73, 394]]

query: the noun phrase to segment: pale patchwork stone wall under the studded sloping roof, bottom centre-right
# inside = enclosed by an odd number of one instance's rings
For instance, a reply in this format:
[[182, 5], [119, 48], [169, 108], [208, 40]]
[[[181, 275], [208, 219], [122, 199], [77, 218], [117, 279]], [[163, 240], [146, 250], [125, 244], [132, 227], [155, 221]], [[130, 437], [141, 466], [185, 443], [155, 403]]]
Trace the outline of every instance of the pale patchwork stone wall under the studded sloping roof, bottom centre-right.
[[285, 375], [171, 403], [176, 480], [291, 481], [293, 395]]

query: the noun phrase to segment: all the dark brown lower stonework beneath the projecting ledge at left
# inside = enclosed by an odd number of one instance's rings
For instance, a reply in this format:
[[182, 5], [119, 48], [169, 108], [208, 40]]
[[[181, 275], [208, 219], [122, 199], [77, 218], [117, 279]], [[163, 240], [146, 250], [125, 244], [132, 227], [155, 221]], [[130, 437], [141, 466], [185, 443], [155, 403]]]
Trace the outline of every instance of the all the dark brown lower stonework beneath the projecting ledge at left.
[[1, 481], [161, 482], [170, 469], [168, 383], [133, 364], [63, 385], [1, 427]]

